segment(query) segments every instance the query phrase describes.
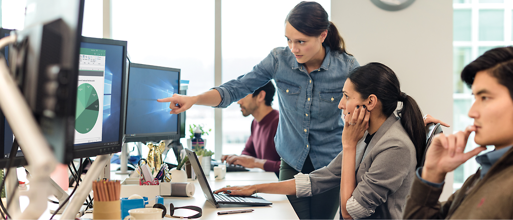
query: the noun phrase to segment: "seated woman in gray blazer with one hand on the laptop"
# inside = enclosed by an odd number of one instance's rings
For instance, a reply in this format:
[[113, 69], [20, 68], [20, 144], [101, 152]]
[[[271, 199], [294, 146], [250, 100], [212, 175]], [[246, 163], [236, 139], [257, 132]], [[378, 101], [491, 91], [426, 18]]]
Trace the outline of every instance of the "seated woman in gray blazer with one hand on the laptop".
[[[420, 108], [412, 97], [401, 92], [397, 75], [380, 63], [356, 68], [343, 92], [339, 104], [345, 115], [343, 151], [328, 166], [309, 174], [299, 173], [287, 181], [225, 187], [214, 192], [300, 197], [340, 187], [341, 219], [401, 219], [426, 143]], [[398, 102], [402, 103], [398, 112], [401, 119], [394, 114]]]

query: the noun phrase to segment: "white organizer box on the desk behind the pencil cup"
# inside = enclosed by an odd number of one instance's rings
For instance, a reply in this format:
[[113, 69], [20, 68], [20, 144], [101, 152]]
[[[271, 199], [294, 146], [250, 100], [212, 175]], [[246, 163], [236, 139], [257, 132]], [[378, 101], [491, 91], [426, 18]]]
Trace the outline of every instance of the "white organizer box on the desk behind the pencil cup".
[[[122, 198], [129, 197], [133, 194], [148, 197], [148, 207], [155, 204], [155, 196], [171, 196], [171, 183], [163, 182], [160, 185], [140, 186], [139, 178], [126, 178], [121, 183], [120, 196]], [[153, 200], [152, 200], [153, 199]]]

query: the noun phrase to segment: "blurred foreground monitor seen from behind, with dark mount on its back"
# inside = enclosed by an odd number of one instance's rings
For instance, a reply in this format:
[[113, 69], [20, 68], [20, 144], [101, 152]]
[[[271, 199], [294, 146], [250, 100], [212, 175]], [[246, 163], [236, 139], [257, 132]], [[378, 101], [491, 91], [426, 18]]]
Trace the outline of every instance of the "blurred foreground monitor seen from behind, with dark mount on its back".
[[[55, 158], [65, 164], [72, 159], [75, 106], [69, 103], [76, 101], [83, 15], [84, 0], [27, 0], [24, 28], [9, 47], [11, 75]], [[23, 132], [11, 127], [15, 134]]]

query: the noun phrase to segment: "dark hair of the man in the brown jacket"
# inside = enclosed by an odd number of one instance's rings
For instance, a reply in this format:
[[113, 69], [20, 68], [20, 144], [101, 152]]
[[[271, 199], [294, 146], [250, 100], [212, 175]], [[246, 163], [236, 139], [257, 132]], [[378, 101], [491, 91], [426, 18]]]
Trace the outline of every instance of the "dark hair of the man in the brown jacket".
[[476, 74], [483, 70], [497, 78], [499, 84], [508, 88], [509, 96], [513, 99], [513, 47], [500, 47], [486, 51], [463, 68], [461, 79], [471, 87]]

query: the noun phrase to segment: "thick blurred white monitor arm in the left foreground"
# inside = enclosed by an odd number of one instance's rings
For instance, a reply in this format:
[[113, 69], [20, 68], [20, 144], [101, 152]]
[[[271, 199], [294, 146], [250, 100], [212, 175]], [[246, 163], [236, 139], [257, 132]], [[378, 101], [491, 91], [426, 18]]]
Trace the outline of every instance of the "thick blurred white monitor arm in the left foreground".
[[[14, 36], [0, 39], [0, 47], [12, 43], [13, 39]], [[56, 160], [3, 59], [0, 59], [0, 97], [0, 107], [16, 136], [19, 147], [22, 148], [27, 162], [34, 168], [27, 192], [30, 203], [25, 211], [14, 219], [37, 219], [47, 207], [47, 197], [51, 192], [48, 178], [55, 169]]]

